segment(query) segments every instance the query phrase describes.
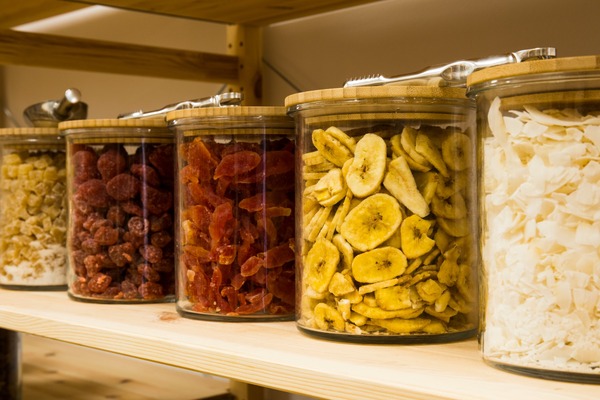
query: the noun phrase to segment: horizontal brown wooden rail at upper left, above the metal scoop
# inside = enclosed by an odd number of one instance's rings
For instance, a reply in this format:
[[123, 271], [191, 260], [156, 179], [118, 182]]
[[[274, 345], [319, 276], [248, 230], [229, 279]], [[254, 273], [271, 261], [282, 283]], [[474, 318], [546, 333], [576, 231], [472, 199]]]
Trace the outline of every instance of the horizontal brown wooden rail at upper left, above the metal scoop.
[[0, 30], [0, 64], [236, 83], [238, 59], [49, 34]]

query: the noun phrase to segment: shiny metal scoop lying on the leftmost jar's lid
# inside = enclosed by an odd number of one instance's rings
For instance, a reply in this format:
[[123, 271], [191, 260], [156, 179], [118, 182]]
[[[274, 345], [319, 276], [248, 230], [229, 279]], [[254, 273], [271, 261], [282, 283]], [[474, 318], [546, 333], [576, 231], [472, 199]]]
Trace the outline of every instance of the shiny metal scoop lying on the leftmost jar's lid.
[[48, 100], [27, 107], [23, 117], [36, 127], [54, 127], [62, 121], [85, 119], [87, 104], [81, 101], [79, 90], [67, 89], [60, 100]]

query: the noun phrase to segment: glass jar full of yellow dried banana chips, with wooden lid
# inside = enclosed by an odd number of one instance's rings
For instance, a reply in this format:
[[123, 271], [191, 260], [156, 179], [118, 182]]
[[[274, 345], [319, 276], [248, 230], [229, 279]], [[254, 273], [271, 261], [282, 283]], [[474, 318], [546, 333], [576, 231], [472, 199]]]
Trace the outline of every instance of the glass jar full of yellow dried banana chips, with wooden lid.
[[298, 135], [298, 328], [366, 343], [477, 326], [474, 104], [378, 86], [285, 100]]

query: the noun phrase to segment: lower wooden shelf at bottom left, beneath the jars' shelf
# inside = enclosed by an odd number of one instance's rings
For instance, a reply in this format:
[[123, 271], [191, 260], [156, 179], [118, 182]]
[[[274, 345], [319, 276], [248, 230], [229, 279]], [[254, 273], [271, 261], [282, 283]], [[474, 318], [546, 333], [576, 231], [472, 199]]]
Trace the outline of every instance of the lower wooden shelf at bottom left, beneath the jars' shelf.
[[231, 399], [223, 379], [35, 335], [22, 339], [23, 400]]

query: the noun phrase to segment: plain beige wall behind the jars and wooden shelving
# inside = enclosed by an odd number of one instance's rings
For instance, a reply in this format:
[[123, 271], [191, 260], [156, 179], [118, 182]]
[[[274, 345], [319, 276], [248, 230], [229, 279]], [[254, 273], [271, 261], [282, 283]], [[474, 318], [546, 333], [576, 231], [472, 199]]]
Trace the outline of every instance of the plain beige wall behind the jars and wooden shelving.
[[[27, 29], [225, 52], [224, 25], [96, 10]], [[304, 91], [339, 86], [352, 76], [395, 75], [527, 47], [555, 46], [563, 56], [600, 54], [598, 15], [597, 0], [387, 0], [266, 27], [263, 54]], [[209, 96], [221, 87], [17, 66], [7, 66], [5, 72], [7, 105], [19, 119], [25, 107], [58, 98], [67, 87], [82, 91], [91, 118]], [[270, 68], [263, 73], [265, 104], [282, 104], [296, 91]]]

